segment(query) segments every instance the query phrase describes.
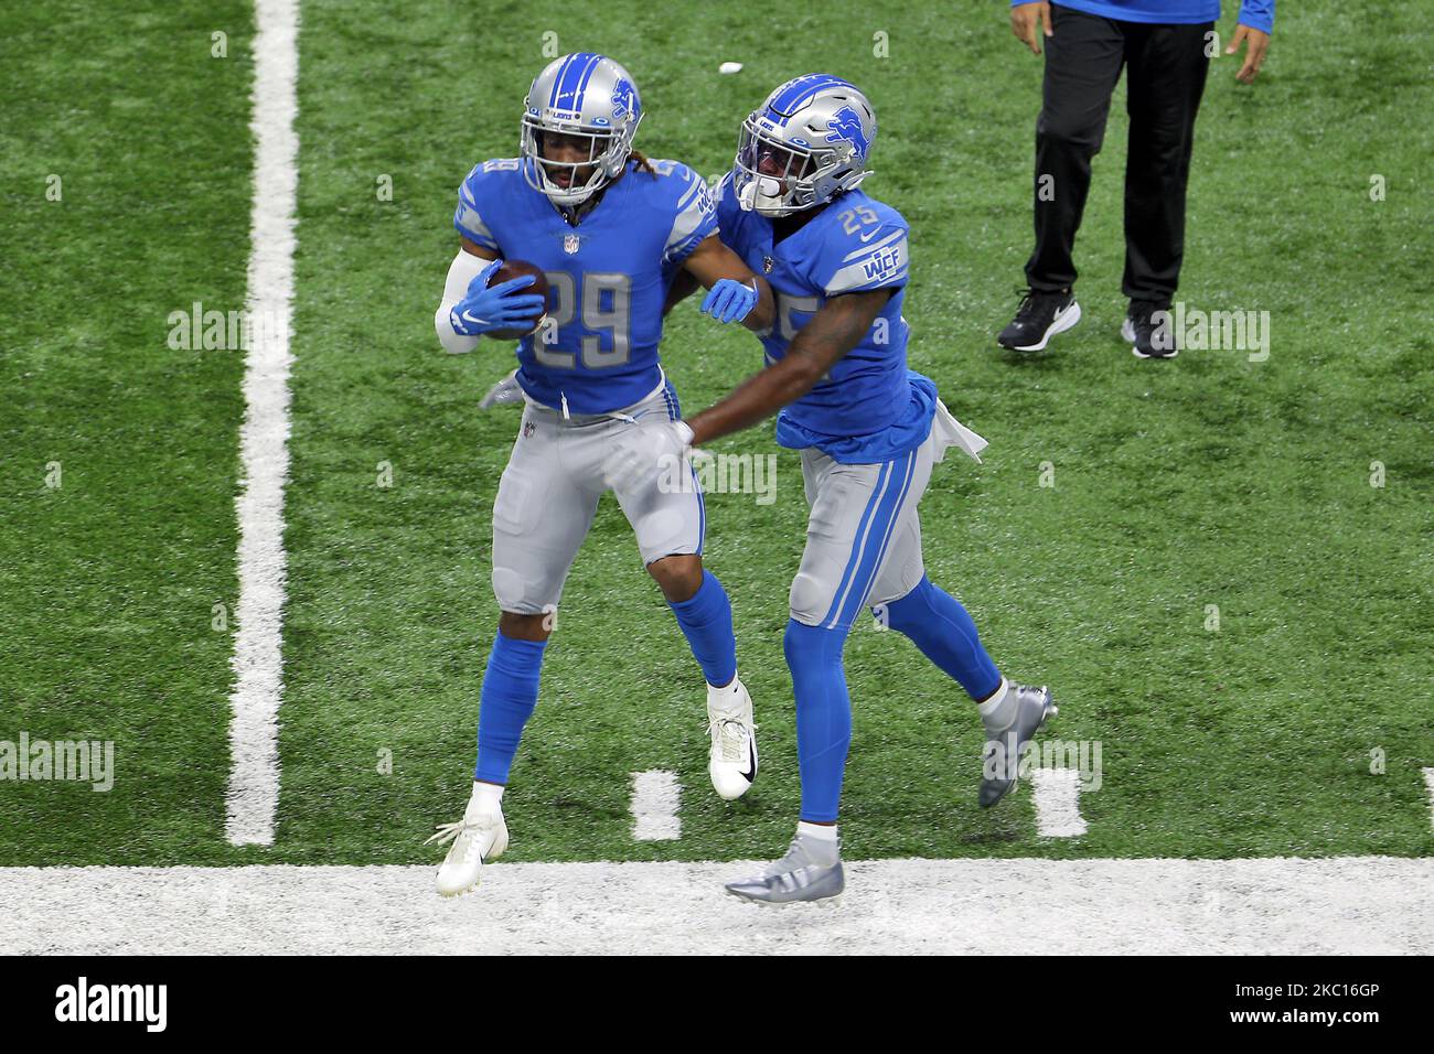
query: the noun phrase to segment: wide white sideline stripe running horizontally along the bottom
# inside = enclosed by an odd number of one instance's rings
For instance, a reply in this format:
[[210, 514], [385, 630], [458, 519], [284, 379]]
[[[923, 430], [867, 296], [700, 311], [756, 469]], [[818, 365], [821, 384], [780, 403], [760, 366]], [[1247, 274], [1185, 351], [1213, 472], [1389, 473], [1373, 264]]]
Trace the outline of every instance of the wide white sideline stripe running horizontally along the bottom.
[[0, 952], [1434, 954], [1434, 858], [873, 860], [839, 903], [723, 891], [756, 866], [499, 860], [452, 901], [432, 866], [6, 868]]

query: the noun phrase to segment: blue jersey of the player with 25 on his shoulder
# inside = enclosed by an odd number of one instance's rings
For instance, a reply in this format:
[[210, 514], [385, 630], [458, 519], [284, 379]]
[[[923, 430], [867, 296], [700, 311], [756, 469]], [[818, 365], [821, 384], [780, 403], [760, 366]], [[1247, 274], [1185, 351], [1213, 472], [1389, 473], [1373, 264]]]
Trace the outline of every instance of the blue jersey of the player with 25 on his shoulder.
[[773, 245], [771, 221], [743, 211], [728, 175], [717, 191], [723, 242], [766, 275], [777, 321], [761, 334], [767, 363], [787, 353], [797, 331], [843, 293], [896, 290], [862, 341], [807, 394], [782, 410], [777, 442], [816, 446], [839, 462], [885, 462], [919, 446], [931, 432], [935, 384], [906, 369], [906, 221], [860, 189], [847, 191], [804, 227]]

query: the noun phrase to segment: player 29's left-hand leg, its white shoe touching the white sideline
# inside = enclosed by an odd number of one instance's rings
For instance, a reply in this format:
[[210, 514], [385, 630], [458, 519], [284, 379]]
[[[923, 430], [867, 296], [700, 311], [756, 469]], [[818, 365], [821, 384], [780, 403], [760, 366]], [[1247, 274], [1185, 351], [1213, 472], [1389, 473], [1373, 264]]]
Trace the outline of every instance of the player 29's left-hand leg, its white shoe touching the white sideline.
[[572, 559], [592, 525], [599, 490], [575, 482], [559, 456], [562, 427], [528, 407], [493, 502], [493, 594], [502, 614], [488, 655], [478, 714], [478, 763], [463, 819], [439, 868], [445, 896], [473, 889], [485, 860], [508, 846], [502, 797], [523, 726], [538, 704], [543, 652]]

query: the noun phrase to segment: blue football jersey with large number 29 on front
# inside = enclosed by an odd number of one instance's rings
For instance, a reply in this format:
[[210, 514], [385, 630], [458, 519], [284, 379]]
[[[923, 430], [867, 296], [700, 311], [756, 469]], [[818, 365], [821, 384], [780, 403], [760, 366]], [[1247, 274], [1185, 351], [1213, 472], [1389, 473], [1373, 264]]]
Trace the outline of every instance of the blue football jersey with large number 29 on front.
[[576, 225], [523, 179], [519, 158], [485, 161], [459, 189], [453, 227], [548, 275], [552, 326], [518, 346], [518, 383], [572, 413], [631, 406], [661, 383], [663, 304], [683, 261], [717, 231], [707, 185], [685, 165], [628, 162]]

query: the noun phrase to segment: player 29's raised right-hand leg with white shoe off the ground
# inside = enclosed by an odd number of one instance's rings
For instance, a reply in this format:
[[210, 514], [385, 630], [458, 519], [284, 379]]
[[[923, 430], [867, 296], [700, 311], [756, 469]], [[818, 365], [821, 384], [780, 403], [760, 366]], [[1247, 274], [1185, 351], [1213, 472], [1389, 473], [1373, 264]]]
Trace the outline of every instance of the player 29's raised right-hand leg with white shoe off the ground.
[[[670, 389], [644, 413], [677, 414]], [[632, 424], [614, 422], [609, 437]], [[707, 511], [701, 486], [685, 459], [654, 465], [647, 479], [614, 492], [637, 535], [648, 574], [663, 589], [673, 617], [707, 681], [707, 724], [711, 737], [707, 773], [723, 799], [741, 797], [757, 777], [757, 737], [751, 695], [737, 677], [737, 638], [731, 601], [717, 576], [703, 566]]]

